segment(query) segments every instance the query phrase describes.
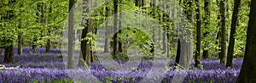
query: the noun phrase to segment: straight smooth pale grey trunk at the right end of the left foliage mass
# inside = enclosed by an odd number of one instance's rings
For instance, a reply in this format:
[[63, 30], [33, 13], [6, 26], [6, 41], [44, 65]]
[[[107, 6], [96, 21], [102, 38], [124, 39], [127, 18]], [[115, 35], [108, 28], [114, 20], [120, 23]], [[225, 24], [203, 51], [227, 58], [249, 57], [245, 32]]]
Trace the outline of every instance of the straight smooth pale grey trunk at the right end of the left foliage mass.
[[75, 4], [75, 0], [69, 0], [69, 8], [68, 8], [68, 62], [67, 69], [74, 69], [74, 30], [73, 30], [73, 6]]

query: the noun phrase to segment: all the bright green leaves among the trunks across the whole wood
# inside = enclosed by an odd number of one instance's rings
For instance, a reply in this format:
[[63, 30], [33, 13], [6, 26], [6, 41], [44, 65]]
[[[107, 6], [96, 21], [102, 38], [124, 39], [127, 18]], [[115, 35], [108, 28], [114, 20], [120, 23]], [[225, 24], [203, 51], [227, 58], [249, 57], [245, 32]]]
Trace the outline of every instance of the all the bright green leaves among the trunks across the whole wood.
[[[187, 13], [187, 11], [195, 11], [195, 3], [191, 3], [189, 5], [189, 2], [192, 2], [191, 0], [178, 0], [181, 1], [179, 4], [181, 8], [183, 8], [183, 11]], [[218, 46], [216, 42], [218, 42], [218, 39], [216, 39], [217, 32], [219, 31], [219, 25], [218, 23], [220, 20], [218, 19], [218, 12], [219, 12], [219, 6], [218, 2], [213, 0], [209, 1], [209, 11], [210, 16], [206, 16], [204, 11], [204, 2], [201, 1], [200, 8], [201, 8], [201, 16], [207, 17], [208, 20], [202, 20], [202, 33], [209, 32], [207, 36], [201, 36], [201, 50], [209, 50], [210, 57], [217, 57], [218, 55]], [[247, 22], [248, 22], [248, 14], [249, 14], [249, 3], [250, 0], [243, 0], [241, 1], [241, 8], [239, 13], [239, 23], [236, 27], [236, 43], [235, 43], [235, 52], [234, 55], [236, 57], [242, 57], [244, 54], [244, 50], [242, 48], [245, 48], [245, 42], [246, 42], [246, 34], [247, 34]], [[93, 27], [94, 29], [101, 27], [101, 25], [106, 25], [106, 21], [108, 21], [109, 27], [113, 26], [113, 1], [110, 0], [108, 2], [105, 2], [105, 0], [93, 0], [93, 13], [91, 16], [89, 14], [86, 14], [82, 12], [84, 8], [81, 8], [83, 5], [82, 0], [77, 0], [76, 2], [78, 5], [76, 5], [74, 8], [75, 10], [75, 16], [74, 18], [78, 18], [74, 20], [75, 29], [84, 29], [84, 27], [81, 27], [82, 16], [85, 14], [85, 19], [93, 19]], [[227, 33], [229, 36], [230, 33], [230, 24], [231, 24], [231, 16], [233, 11], [233, 3], [234, 1], [228, 1], [228, 17], [227, 17]], [[161, 2], [157, 2], [155, 5], [160, 5]], [[168, 11], [165, 11], [163, 8], [158, 8], [157, 6], [150, 7], [150, 4], [148, 2], [145, 2], [144, 7], [139, 8], [135, 6], [134, 2], [131, 2], [129, 0], [119, 0], [119, 12], [123, 13], [122, 18], [125, 19], [119, 19], [123, 22], [122, 27], [130, 27], [131, 25], [134, 25], [134, 27], [138, 29], [143, 29], [143, 26], [138, 25], [140, 22], [143, 25], [152, 25], [157, 24], [154, 21], [158, 22], [160, 27], [162, 29], [168, 28], [170, 30], [170, 34], [173, 34], [170, 37], [174, 37], [177, 33], [174, 33], [173, 29], [177, 29], [177, 27], [172, 26], [172, 19], [176, 19], [176, 21], [182, 21], [181, 19], [175, 18], [175, 16], [181, 16], [178, 14], [178, 11], [173, 12], [169, 10], [175, 10], [175, 7], [177, 5], [173, 5], [173, 2], [165, 2], [163, 4], [170, 4], [170, 8], [167, 8]], [[40, 7], [44, 6], [44, 7]], [[85, 5], [86, 6], [86, 5]], [[44, 8], [44, 11], [42, 11], [42, 8]], [[106, 11], [106, 8], [108, 8], [108, 11]], [[34, 0], [16, 0], [15, 3], [11, 3], [10, 0], [3, 0], [0, 3], [0, 41], [3, 40], [9, 40], [11, 42], [0, 42], [0, 47], [5, 47], [9, 45], [16, 45], [18, 36], [22, 36], [23, 46], [29, 47], [32, 46], [32, 43], [35, 43], [38, 45], [38, 47], [45, 46], [47, 41], [51, 41], [51, 47], [61, 47], [60, 42], [66, 42], [67, 40], [60, 40], [62, 36], [62, 32], [66, 31], [64, 28], [67, 25], [67, 14], [68, 14], [68, 1], [67, 0], [41, 0], [41, 1], [34, 1]], [[11, 12], [12, 11], [12, 12]], [[136, 13], [134, 13], [136, 12]], [[163, 17], [162, 14], [174, 14], [174, 17]], [[142, 13], [142, 14], [140, 14]], [[134, 15], [135, 14], [135, 15]], [[169, 15], [170, 15], [169, 14]], [[189, 12], [188, 12], [189, 14]], [[187, 15], [188, 15], [187, 14]], [[191, 14], [191, 13], [190, 13]], [[194, 15], [194, 21], [191, 25], [193, 27], [194, 36], [195, 36], [195, 12], [192, 12]], [[13, 15], [12, 18], [6, 18], [6, 16]], [[148, 18], [148, 17], [151, 18]], [[140, 17], [140, 19], [137, 19], [137, 17]], [[188, 17], [188, 16], [187, 16]], [[129, 18], [129, 19], [127, 19]], [[154, 20], [154, 21], [152, 21]], [[147, 22], [145, 22], [147, 21]], [[209, 22], [209, 25], [205, 25], [204, 22]], [[124, 24], [125, 23], [125, 24]], [[182, 23], [182, 22], [177, 22]], [[159, 27], [157, 25], [153, 25], [150, 27]], [[208, 27], [208, 28], [206, 28]], [[93, 30], [94, 30], [93, 29]], [[107, 30], [107, 29], [106, 29]], [[147, 30], [148, 31], [148, 30]], [[150, 35], [152, 31], [143, 32], [138, 30], [137, 33], [132, 33], [131, 31], [127, 31], [127, 35], [133, 38], [133, 44], [137, 46], [143, 46], [145, 43], [152, 43], [149, 38], [152, 36]], [[120, 34], [119, 38], [122, 42], [130, 42], [127, 37], [125, 37], [125, 34]], [[92, 37], [87, 37], [85, 39], [90, 40], [91, 42], [95, 42], [96, 38], [98, 38], [95, 34], [90, 33], [88, 34]], [[155, 36], [155, 38], [161, 38], [161, 36]], [[33, 42], [33, 40], [37, 40], [36, 42]], [[101, 40], [103, 40], [102, 38]], [[229, 38], [228, 38], [229, 39]], [[176, 39], [172, 40], [173, 42], [177, 42]], [[229, 41], [229, 40], [227, 40]], [[172, 42], [169, 44], [172, 44], [171, 55], [176, 54], [176, 46]], [[194, 44], [195, 45], [195, 41]], [[157, 46], [157, 45], [156, 45]], [[128, 47], [128, 46], [126, 46]], [[142, 47], [144, 53], [147, 52], [150, 46]], [[194, 46], [195, 47], [195, 46]], [[79, 47], [77, 47], [79, 48]], [[95, 50], [96, 47], [92, 47], [92, 50]], [[202, 51], [201, 51], [202, 52]], [[148, 53], [148, 52], [147, 52]], [[172, 57], [174, 57], [172, 56]]]

